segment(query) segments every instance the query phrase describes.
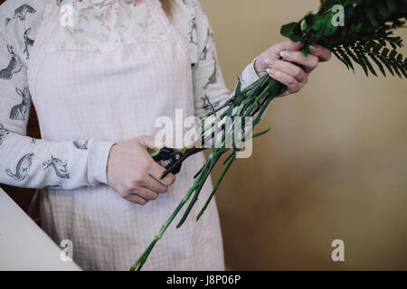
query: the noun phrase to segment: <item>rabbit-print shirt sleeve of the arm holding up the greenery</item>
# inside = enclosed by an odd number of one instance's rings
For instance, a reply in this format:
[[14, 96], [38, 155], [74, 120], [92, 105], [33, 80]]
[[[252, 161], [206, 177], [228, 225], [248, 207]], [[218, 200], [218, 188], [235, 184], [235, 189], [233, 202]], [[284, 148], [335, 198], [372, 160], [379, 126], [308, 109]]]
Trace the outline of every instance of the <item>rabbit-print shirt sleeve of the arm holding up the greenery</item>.
[[[195, 115], [203, 117], [211, 111], [211, 104], [217, 107], [231, 98], [226, 88], [219, 65], [213, 29], [199, 1], [183, 1], [189, 14], [186, 37], [192, 61], [194, 80]], [[259, 77], [252, 61], [241, 73], [241, 88], [251, 85]], [[207, 98], [211, 104], [208, 103]]]

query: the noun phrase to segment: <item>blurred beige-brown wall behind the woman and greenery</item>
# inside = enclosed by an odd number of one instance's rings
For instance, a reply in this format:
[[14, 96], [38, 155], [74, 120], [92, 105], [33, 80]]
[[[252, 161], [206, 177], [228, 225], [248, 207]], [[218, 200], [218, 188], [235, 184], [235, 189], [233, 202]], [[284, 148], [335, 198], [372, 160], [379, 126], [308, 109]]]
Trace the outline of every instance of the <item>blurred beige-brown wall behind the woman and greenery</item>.
[[[229, 88], [317, 0], [201, 0]], [[407, 41], [407, 31], [400, 33]], [[407, 50], [402, 50], [407, 54]], [[233, 269], [407, 269], [407, 82], [323, 64], [217, 192]], [[220, 169], [213, 173], [218, 176]], [[330, 243], [345, 241], [345, 263]]]

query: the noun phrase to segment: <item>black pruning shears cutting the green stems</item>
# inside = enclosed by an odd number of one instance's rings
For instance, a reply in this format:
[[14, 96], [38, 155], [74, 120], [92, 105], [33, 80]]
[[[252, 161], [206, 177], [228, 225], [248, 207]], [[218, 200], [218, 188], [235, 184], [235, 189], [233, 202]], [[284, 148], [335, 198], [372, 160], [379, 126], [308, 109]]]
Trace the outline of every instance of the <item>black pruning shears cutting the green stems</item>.
[[150, 155], [156, 162], [159, 161], [167, 162], [165, 166], [166, 172], [163, 172], [163, 175], [160, 178], [162, 179], [170, 172], [174, 174], [178, 173], [181, 170], [181, 166], [183, 162], [186, 160], [186, 158], [193, 154], [202, 152], [204, 150], [205, 148], [196, 148], [196, 147], [192, 148], [185, 147], [183, 149], [177, 150], [174, 148], [164, 146]]

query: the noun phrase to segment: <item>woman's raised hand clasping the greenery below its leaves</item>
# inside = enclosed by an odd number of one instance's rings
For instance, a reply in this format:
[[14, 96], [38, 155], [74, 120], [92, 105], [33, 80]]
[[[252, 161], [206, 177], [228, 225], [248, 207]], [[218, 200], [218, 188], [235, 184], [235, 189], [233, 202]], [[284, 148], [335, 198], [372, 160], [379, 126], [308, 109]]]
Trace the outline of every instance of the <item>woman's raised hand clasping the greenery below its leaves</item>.
[[[329, 61], [332, 57], [331, 51], [320, 45], [311, 47], [305, 57], [299, 51], [303, 46], [304, 43], [292, 41], [274, 44], [260, 54], [254, 63], [254, 69], [260, 78], [269, 73], [273, 79], [286, 85], [288, 89], [283, 96], [296, 93], [307, 84], [309, 73], [317, 68], [318, 63]], [[280, 56], [285, 61], [279, 61]], [[290, 62], [297, 63], [302, 68]]]

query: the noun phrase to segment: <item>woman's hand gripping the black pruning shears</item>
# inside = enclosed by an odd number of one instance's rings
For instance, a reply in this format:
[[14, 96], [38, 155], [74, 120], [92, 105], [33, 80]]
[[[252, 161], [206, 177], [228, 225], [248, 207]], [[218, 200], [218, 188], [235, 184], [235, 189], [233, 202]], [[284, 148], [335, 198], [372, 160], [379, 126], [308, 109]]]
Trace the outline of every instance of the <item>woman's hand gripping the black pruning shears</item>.
[[148, 153], [156, 149], [155, 139], [146, 135], [114, 144], [107, 168], [109, 186], [124, 199], [140, 205], [156, 200], [159, 193], [166, 192], [175, 182], [172, 173], [160, 180], [166, 169]]

